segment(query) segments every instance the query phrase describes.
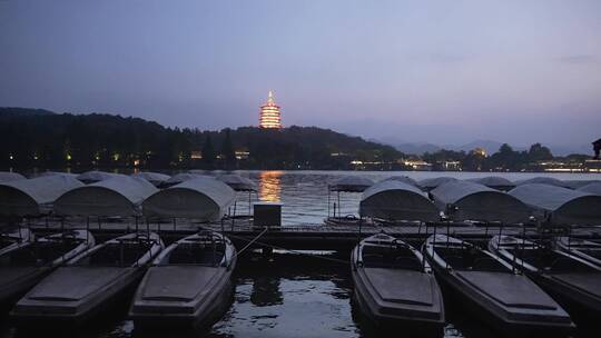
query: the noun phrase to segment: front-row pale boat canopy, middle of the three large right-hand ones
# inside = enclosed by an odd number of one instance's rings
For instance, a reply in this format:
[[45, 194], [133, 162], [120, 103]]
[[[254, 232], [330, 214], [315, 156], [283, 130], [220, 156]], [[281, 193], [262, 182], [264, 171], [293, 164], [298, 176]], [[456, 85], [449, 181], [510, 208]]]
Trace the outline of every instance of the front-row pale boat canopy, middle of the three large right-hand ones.
[[471, 181], [450, 181], [430, 191], [441, 211], [456, 221], [528, 221], [530, 208], [515, 197]]

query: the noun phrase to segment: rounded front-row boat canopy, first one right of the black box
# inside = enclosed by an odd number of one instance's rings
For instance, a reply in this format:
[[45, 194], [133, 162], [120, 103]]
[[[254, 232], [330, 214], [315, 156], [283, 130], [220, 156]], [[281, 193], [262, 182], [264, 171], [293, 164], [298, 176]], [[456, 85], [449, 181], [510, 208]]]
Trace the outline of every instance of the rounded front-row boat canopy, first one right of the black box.
[[380, 181], [367, 188], [361, 198], [362, 217], [388, 220], [439, 220], [439, 210], [414, 186], [395, 181]]

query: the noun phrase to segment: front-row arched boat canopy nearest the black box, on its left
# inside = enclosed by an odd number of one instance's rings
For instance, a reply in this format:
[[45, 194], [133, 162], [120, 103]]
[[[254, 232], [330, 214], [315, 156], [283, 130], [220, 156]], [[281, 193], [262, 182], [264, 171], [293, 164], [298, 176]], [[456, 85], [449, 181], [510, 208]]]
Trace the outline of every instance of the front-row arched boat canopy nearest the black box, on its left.
[[198, 177], [156, 192], [142, 203], [147, 217], [178, 217], [215, 221], [227, 213], [236, 192], [226, 183]]

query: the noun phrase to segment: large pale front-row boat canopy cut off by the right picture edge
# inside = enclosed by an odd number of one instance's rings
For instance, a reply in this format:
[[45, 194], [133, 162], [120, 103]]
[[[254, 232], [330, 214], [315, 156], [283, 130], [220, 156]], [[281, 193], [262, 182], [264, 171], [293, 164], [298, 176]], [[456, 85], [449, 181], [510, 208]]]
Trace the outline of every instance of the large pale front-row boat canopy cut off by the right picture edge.
[[601, 196], [549, 185], [523, 185], [513, 197], [533, 208], [552, 225], [601, 225]]

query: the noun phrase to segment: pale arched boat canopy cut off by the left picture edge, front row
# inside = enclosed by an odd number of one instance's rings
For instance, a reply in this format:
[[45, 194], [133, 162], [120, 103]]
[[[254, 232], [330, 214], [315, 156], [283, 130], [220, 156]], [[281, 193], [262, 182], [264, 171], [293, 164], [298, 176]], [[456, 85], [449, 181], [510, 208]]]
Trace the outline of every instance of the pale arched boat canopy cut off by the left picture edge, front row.
[[0, 183], [0, 215], [48, 213], [61, 195], [79, 187], [83, 183], [75, 177], [59, 175]]

